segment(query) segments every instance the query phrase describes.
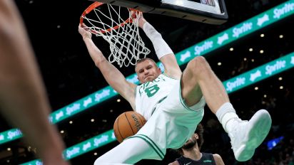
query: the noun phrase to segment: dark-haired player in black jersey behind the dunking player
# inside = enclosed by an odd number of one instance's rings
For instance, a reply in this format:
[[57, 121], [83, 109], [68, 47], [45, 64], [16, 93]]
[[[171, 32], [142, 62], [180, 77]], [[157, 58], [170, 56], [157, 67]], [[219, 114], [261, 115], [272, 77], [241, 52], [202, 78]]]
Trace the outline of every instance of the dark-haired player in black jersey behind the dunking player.
[[173, 161], [168, 165], [224, 165], [223, 159], [221, 159], [219, 154], [208, 154], [201, 152], [200, 149], [203, 144], [203, 126], [198, 124], [196, 128], [196, 133], [192, 135], [190, 139], [178, 149], [178, 152], [182, 155], [180, 158]]

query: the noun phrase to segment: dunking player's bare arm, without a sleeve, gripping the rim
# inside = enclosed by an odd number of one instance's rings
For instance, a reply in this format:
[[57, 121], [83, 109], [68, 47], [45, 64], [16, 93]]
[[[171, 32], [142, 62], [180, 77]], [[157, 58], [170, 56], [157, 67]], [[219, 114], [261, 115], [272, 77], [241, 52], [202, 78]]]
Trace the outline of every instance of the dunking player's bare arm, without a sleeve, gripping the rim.
[[123, 98], [130, 102], [131, 106], [134, 108], [135, 105], [135, 89], [136, 85], [128, 82], [123, 74], [108, 60], [104, 57], [101, 50], [97, 48], [95, 43], [91, 39], [91, 33], [81, 25], [78, 26], [78, 32], [81, 33], [83, 41], [88, 48], [88, 53], [95, 65], [101, 70], [103, 77], [106, 79], [109, 85], [113, 87], [116, 92], [118, 92]]

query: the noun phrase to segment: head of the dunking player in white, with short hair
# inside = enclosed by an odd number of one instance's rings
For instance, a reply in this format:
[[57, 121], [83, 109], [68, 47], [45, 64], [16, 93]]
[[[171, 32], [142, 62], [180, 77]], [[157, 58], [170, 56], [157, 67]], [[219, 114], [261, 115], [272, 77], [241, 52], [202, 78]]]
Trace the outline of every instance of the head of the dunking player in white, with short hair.
[[136, 63], [135, 71], [138, 75], [138, 80], [143, 84], [148, 81], [153, 81], [161, 75], [161, 69], [158, 68], [155, 61], [151, 58], [143, 58]]

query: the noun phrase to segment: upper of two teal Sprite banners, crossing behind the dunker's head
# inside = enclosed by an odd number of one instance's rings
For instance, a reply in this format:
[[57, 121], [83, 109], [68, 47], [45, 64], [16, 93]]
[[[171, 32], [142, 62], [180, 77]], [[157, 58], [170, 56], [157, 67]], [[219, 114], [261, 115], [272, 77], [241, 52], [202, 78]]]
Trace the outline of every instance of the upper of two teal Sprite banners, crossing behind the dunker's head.
[[[198, 55], [206, 55], [207, 53], [221, 48], [228, 43], [238, 41], [240, 38], [248, 36], [250, 33], [258, 31], [261, 28], [265, 28], [270, 24], [293, 15], [294, 10], [292, 9], [292, 6], [294, 6], [294, 0], [286, 1], [278, 6], [273, 7], [272, 9], [269, 9], [268, 11], [258, 14], [257, 16], [253, 16], [252, 18], [249, 18], [248, 20], [233, 26], [232, 28], [228, 28], [227, 30], [220, 32], [215, 36], [206, 39], [205, 41], [201, 41], [194, 46], [176, 53], [178, 64], [186, 64], [188, 61], [192, 60]], [[162, 69], [163, 65], [161, 63], [158, 63], [158, 65]], [[129, 82], [138, 84], [138, 79], [135, 74], [129, 75], [126, 79]], [[76, 115], [79, 112], [88, 110], [88, 108], [93, 107], [94, 105], [98, 105], [105, 100], [111, 99], [116, 95], [118, 95], [118, 93], [113, 90], [112, 87], [103, 87], [101, 90], [93, 92], [91, 95], [83, 97], [80, 100], [77, 100], [70, 105], [66, 105], [59, 110], [55, 110], [53, 113], [51, 113], [49, 121], [53, 124], [56, 124], [64, 119]], [[12, 135], [10, 136], [9, 134]], [[19, 129], [9, 129], [0, 133], [0, 144], [11, 142], [21, 137], [22, 134]]]

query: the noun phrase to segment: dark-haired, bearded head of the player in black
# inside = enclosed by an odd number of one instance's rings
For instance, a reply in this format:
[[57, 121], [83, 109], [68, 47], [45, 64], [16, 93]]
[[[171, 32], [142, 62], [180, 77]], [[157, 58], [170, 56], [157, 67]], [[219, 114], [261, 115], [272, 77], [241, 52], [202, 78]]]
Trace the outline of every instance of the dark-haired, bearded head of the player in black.
[[183, 149], [189, 150], [193, 149], [193, 147], [198, 146], [199, 150], [201, 149], [203, 144], [203, 126], [202, 124], [198, 124], [197, 129], [195, 131], [195, 134], [188, 139], [188, 141], [181, 147], [181, 149], [178, 149], [177, 151], [183, 155]]

